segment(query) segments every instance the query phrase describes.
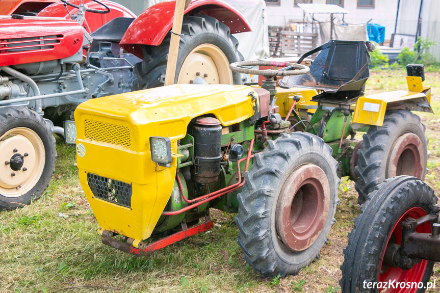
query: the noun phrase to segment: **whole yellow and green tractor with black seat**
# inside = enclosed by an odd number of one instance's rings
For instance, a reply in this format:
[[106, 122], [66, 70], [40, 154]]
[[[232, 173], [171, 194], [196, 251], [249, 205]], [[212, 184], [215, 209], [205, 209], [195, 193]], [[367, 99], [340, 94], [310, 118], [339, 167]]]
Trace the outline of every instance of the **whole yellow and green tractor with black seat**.
[[[330, 41], [298, 60], [321, 51], [310, 68], [231, 64], [266, 76], [261, 88], [197, 81], [79, 105], [66, 131], [75, 123], [71, 143], [102, 243], [145, 255], [212, 228], [215, 207], [238, 213], [237, 242], [258, 272], [309, 265], [335, 223], [340, 176], [356, 169], [368, 193], [387, 176], [425, 174], [424, 127], [408, 111], [431, 111], [423, 68], [408, 67], [408, 91], [364, 96], [368, 48]], [[355, 129], [367, 131], [361, 145]]]

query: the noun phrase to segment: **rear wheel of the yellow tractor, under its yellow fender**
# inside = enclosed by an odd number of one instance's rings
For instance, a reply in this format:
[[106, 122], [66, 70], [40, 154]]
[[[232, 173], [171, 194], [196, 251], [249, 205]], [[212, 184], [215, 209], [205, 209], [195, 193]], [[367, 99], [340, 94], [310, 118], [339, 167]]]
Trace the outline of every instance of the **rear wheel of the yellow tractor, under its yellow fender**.
[[386, 112], [382, 126], [370, 126], [357, 151], [357, 201], [364, 203], [386, 178], [408, 175], [423, 180], [427, 162], [428, 138], [420, 117], [404, 110]]

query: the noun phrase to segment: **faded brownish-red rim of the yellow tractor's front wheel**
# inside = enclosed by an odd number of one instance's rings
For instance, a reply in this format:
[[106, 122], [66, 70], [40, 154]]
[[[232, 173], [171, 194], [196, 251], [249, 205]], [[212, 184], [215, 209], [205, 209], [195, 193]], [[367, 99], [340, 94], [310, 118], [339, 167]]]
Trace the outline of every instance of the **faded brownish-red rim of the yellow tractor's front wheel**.
[[309, 248], [324, 228], [330, 205], [330, 185], [325, 172], [306, 164], [283, 183], [276, 211], [276, 229], [292, 251]]

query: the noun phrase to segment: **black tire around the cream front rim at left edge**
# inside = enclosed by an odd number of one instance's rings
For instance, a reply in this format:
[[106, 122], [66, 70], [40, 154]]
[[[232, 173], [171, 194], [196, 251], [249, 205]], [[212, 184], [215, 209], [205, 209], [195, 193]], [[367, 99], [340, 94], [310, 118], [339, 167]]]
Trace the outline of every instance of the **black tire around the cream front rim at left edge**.
[[[35, 184], [35, 186], [27, 193], [19, 197], [6, 197], [0, 194], [0, 210], [2, 209], [14, 209], [22, 205], [28, 205], [33, 199], [39, 198], [46, 190], [50, 178], [55, 171], [56, 161], [56, 147], [55, 138], [50, 131], [50, 127], [44, 122], [44, 120], [38, 116], [35, 112], [21, 107], [10, 107], [7, 110], [18, 110], [17, 112], [10, 112], [12, 117], [7, 122], [0, 121], [0, 136], [4, 135], [7, 131], [17, 128], [25, 127], [34, 131], [41, 139], [44, 152], [45, 162], [43, 172]], [[3, 109], [0, 108], [0, 111]], [[24, 113], [25, 115], [19, 115], [18, 113]]]

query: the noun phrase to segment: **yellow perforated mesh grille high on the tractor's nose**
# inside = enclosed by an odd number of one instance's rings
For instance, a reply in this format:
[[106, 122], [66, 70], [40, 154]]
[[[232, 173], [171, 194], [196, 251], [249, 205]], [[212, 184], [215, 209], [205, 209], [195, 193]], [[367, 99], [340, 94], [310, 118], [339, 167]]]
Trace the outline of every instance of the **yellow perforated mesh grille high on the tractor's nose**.
[[131, 146], [130, 130], [125, 126], [86, 120], [86, 138], [125, 147]]

